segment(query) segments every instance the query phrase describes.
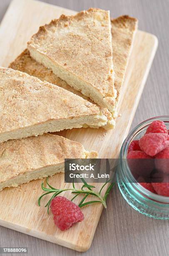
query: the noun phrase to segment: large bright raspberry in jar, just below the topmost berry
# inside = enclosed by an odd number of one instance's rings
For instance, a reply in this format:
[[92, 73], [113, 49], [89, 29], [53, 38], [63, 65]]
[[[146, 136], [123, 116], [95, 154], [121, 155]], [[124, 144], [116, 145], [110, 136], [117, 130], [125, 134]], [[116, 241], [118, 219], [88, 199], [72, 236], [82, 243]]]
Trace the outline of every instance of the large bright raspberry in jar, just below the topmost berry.
[[148, 133], [139, 140], [139, 145], [147, 155], [155, 156], [169, 146], [168, 138], [167, 133]]

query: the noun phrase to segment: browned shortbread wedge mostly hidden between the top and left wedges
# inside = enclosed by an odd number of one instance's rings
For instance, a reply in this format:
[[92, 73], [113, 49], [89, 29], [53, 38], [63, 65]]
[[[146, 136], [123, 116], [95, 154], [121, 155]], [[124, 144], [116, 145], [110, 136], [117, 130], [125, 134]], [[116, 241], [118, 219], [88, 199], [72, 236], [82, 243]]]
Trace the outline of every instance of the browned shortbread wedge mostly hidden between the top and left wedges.
[[[80, 97], [83, 97], [85, 100], [88, 100], [91, 102], [89, 97], [83, 95], [81, 92], [75, 90], [73, 87], [67, 84], [67, 82], [57, 77], [52, 72], [52, 69], [47, 69], [45, 66], [43, 66], [42, 64], [32, 59], [28, 49], [25, 49], [25, 51], [23, 51], [15, 59], [15, 61], [13, 61], [9, 65], [9, 68], [25, 72], [30, 76], [39, 78], [42, 81], [47, 81], [52, 84], [56, 84], [76, 95], [79, 95]], [[104, 128], [105, 130], [113, 129], [115, 126], [115, 121], [112, 118], [112, 114], [109, 112], [109, 110], [107, 108], [100, 107], [100, 112], [107, 117], [107, 123], [104, 126], [102, 126], [102, 128]], [[92, 126], [90, 125], [90, 127]], [[97, 127], [93, 126], [93, 128], [97, 128]]]

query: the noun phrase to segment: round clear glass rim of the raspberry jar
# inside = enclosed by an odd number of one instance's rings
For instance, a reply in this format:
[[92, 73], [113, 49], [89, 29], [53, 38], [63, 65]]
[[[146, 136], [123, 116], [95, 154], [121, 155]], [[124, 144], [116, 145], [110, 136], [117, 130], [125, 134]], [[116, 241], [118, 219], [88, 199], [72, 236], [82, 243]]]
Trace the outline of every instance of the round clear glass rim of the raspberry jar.
[[137, 125], [127, 136], [127, 138], [124, 140], [121, 150], [120, 150], [120, 168], [123, 169], [124, 171], [124, 175], [127, 177], [127, 179], [131, 181], [133, 181], [132, 185], [135, 189], [137, 189], [139, 192], [141, 192], [143, 195], [145, 195], [146, 197], [149, 197], [149, 199], [158, 201], [158, 202], [162, 202], [162, 203], [169, 203], [169, 197], [165, 197], [165, 196], [161, 196], [161, 195], [157, 195], [152, 193], [151, 191], [145, 189], [144, 187], [142, 187], [139, 183], [137, 183], [137, 181], [134, 179], [129, 166], [127, 164], [127, 161], [124, 161], [124, 159], [127, 159], [127, 151], [128, 151], [128, 147], [130, 142], [132, 141], [132, 138], [134, 137], [134, 135], [136, 135], [139, 131], [142, 131], [142, 129], [144, 127], [146, 127], [148, 124], [152, 123], [155, 120], [161, 120], [164, 122], [169, 122], [169, 116], [156, 116], [153, 118], [149, 118], [145, 121], [143, 121], [142, 123], [140, 123], [139, 125]]

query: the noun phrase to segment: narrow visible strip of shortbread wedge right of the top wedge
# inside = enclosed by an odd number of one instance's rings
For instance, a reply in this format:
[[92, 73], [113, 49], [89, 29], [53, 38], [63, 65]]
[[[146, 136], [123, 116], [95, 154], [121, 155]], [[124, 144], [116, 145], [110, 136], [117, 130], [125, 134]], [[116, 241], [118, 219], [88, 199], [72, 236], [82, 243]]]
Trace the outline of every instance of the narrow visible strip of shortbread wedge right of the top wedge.
[[[112, 48], [114, 64], [114, 87], [117, 90], [116, 106], [119, 102], [120, 91], [124, 82], [127, 62], [132, 50], [138, 20], [127, 15], [111, 20]], [[115, 114], [115, 113], [114, 113]]]

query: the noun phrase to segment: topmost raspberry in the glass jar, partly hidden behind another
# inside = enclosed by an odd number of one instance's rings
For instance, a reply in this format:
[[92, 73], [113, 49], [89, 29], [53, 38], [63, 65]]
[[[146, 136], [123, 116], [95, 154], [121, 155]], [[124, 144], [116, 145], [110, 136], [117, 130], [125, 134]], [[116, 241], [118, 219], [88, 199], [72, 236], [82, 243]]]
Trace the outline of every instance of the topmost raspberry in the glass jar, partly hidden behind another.
[[167, 133], [166, 125], [163, 121], [154, 121], [147, 128], [146, 134], [148, 133]]

